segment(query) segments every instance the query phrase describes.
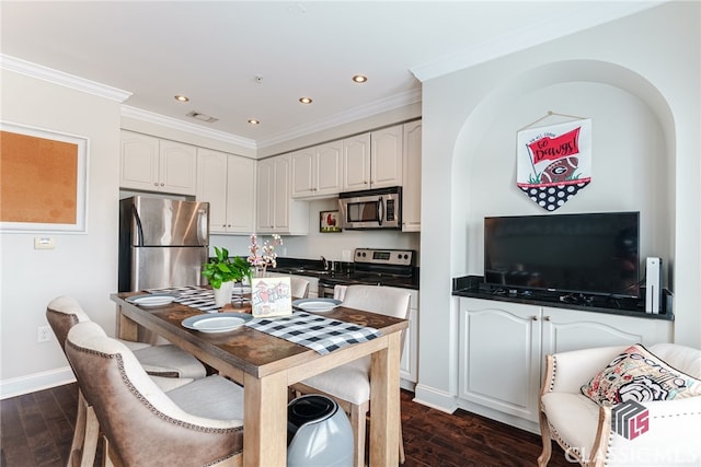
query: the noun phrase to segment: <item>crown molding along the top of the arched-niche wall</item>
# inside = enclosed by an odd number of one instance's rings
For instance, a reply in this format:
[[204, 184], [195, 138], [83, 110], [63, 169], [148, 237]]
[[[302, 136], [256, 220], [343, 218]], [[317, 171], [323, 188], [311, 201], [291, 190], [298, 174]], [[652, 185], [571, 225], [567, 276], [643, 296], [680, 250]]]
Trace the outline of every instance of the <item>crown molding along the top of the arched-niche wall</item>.
[[525, 27], [498, 39], [478, 44], [467, 50], [414, 67], [410, 71], [421, 82], [428, 81], [630, 16], [667, 1], [669, 0], [587, 2], [577, 14], [567, 13], [566, 15], [562, 14], [559, 19], [549, 19], [547, 24], [541, 23]]

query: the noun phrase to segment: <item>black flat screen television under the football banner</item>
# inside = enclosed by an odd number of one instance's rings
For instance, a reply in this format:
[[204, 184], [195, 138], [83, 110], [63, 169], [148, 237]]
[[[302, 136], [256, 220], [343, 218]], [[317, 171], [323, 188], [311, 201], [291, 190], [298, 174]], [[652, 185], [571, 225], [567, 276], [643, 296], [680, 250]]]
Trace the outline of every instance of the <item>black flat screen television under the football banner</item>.
[[640, 212], [484, 218], [484, 281], [637, 297]]

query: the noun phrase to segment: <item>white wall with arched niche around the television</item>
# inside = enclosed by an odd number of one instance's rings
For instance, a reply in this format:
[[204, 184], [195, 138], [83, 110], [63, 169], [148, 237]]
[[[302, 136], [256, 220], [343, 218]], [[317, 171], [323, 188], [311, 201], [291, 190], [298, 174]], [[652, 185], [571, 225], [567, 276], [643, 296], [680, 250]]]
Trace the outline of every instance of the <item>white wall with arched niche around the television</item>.
[[558, 212], [640, 210], [643, 255], [668, 265], [674, 339], [701, 345], [699, 16], [669, 2], [423, 83], [418, 400], [456, 407], [450, 280], [482, 273], [482, 218], [545, 213], [514, 185], [515, 140], [549, 110], [594, 125], [593, 182]]

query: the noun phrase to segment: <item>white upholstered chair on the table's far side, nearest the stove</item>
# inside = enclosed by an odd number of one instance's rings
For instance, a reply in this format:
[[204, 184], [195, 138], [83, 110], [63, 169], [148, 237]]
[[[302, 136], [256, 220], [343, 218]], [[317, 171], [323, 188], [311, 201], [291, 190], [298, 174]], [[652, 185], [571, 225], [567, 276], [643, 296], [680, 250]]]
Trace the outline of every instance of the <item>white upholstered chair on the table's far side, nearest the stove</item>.
[[[400, 289], [348, 285], [345, 289], [343, 306], [406, 319], [410, 300], [411, 293]], [[402, 335], [403, 347], [404, 335]], [[355, 443], [354, 464], [355, 466], [365, 465], [366, 422], [370, 408], [370, 357], [364, 357], [304, 380], [294, 385], [292, 390], [298, 394], [323, 394], [329, 396], [349, 413]], [[400, 463], [404, 464], [401, 419], [399, 440]]]

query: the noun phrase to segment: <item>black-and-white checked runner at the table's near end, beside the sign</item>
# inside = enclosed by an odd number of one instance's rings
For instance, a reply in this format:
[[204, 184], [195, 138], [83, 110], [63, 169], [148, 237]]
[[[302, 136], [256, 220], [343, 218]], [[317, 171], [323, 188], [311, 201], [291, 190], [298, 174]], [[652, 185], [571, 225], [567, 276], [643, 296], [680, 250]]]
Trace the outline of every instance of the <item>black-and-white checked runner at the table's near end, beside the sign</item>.
[[367, 342], [381, 332], [375, 328], [330, 319], [304, 312], [281, 318], [253, 319], [245, 324], [255, 330], [304, 346], [322, 355], [344, 346]]

